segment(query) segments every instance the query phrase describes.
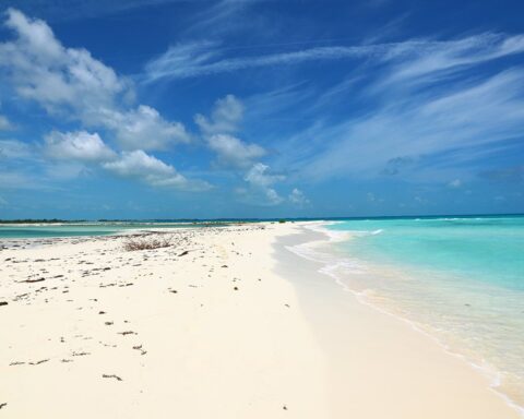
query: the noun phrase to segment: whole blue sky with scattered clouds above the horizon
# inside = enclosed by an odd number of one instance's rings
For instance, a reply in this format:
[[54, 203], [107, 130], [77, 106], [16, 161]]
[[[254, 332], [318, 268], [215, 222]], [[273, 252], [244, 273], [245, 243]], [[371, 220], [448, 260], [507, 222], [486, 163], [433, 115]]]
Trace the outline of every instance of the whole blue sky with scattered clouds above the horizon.
[[522, 15], [0, 0], [0, 218], [523, 213]]

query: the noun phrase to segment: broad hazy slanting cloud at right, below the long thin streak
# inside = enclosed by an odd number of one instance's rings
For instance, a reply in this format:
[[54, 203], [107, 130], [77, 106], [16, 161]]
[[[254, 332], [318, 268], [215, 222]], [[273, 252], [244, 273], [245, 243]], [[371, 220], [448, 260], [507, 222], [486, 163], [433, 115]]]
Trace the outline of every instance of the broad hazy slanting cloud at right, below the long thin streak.
[[[409, 82], [410, 83], [410, 82]], [[517, 141], [524, 129], [524, 71], [514, 69], [487, 80], [462, 83], [462, 87], [428, 85], [429, 92], [405, 87], [384, 89], [383, 103], [369, 115], [340, 123], [318, 124], [297, 135], [300, 144], [317, 139], [327, 141], [296, 161], [297, 170], [308, 179], [340, 176], [374, 177], [388, 168], [389, 161], [403, 157], [414, 164], [406, 167], [405, 178], [416, 170], [420, 180], [422, 156], [445, 155], [426, 170], [434, 175], [508, 147]], [[392, 104], [394, 101], [394, 105]], [[286, 145], [289, 149], [296, 143]], [[281, 151], [286, 155], [286, 149]], [[291, 169], [293, 169], [293, 165]], [[429, 172], [429, 171], [428, 171]], [[446, 175], [449, 176], [449, 175]], [[455, 173], [454, 176], [462, 176]], [[436, 178], [430, 176], [430, 178]]]

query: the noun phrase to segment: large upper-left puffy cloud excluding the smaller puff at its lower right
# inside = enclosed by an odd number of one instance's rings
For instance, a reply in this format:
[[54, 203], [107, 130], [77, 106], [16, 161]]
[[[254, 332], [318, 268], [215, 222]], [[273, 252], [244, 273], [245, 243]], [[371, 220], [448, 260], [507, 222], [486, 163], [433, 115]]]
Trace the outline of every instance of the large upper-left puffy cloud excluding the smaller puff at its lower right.
[[64, 48], [40, 20], [8, 9], [5, 26], [16, 38], [0, 44], [0, 67], [14, 89], [56, 112], [68, 106], [79, 112], [112, 106], [129, 84], [85, 49]]

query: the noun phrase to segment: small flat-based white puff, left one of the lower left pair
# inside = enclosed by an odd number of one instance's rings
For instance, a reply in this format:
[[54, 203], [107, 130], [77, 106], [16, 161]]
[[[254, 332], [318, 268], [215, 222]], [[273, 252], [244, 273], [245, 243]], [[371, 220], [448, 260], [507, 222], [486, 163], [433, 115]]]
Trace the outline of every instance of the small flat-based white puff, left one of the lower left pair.
[[117, 157], [97, 133], [52, 131], [44, 140], [46, 154], [56, 159], [95, 163]]

